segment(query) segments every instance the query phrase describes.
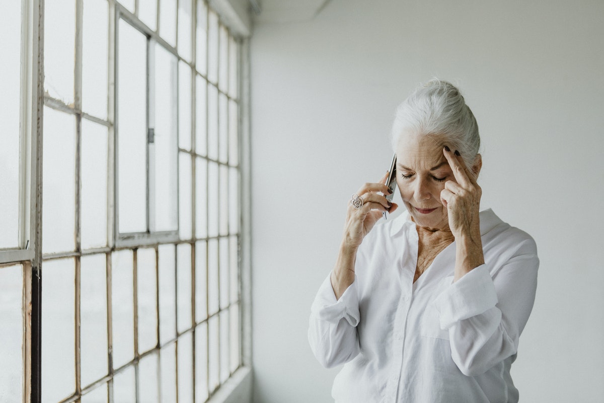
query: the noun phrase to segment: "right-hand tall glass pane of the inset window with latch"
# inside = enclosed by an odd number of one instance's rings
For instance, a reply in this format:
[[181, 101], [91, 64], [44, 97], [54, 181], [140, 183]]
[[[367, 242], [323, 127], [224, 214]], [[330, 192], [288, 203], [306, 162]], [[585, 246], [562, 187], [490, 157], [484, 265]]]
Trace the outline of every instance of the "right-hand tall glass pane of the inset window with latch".
[[177, 62], [172, 53], [155, 45], [155, 142], [149, 147], [155, 160], [153, 231], [178, 230]]

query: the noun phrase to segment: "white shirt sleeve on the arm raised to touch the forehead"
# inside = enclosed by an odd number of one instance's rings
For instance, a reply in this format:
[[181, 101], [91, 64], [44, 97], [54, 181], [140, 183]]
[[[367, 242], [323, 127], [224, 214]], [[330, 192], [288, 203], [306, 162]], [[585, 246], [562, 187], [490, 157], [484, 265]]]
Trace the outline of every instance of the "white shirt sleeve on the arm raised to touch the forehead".
[[480, 375], [517, 352], [535, 302], [538, 266], [531, 239], [494, 274], [478, 266], [435, 298], [451, 358], [464, 375]]

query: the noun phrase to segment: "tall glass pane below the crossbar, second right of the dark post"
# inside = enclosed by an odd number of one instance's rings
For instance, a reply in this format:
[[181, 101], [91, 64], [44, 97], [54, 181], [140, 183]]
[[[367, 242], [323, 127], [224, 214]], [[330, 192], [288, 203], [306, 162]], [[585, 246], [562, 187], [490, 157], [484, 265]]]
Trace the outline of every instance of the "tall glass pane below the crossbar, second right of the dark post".
[[[80, 260], [80, 372], [82, 386], [107, 375], [107, 257]], [[105, 396], [106, 397], [106, 396]]]

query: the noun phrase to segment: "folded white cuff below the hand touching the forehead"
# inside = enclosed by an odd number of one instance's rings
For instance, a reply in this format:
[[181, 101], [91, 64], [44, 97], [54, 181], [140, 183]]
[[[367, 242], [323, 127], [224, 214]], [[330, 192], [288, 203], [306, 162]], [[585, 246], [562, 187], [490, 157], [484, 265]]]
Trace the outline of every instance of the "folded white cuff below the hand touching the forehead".
[[440, 328], [480, 315], [497, 304], [497, 293], [486, 265], [480, 265], [452, 283], [434, 300]]

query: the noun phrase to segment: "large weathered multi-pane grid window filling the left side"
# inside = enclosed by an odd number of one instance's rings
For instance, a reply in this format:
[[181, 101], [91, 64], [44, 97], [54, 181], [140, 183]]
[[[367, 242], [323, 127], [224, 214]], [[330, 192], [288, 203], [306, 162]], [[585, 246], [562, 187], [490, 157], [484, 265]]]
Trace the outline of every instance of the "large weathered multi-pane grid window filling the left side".
[[0, 16], [0, 395], [205, 402], [242, 366], [240, 40], [202, 0], [42, 2]]

